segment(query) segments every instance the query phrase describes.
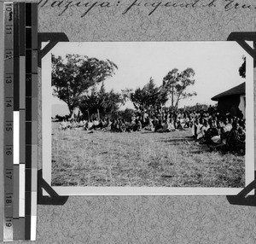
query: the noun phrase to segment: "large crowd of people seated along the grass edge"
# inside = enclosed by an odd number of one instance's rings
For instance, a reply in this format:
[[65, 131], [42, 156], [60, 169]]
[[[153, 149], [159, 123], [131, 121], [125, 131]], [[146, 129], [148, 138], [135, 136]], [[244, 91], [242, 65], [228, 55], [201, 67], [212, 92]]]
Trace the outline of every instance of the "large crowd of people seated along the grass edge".
[[245, 119], [242, 117], [220, 116], [216, 109], [188, 111], [170, 108], [141, 110], [134, 113], [130, 119], [63, 119], [61, 130], [80, 128], [85, 131], [154, 131], [172, 132], [191, 130], [192, 136], [200, 144], [211, 145], [211, 149], [228, 149], [244, 151], [245, 148]]

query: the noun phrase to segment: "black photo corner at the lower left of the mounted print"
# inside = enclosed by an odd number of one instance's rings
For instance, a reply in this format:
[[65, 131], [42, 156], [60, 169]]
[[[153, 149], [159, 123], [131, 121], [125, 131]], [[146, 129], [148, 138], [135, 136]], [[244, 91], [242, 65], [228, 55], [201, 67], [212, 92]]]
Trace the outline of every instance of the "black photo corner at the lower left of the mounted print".
[[[49, 195], [43, 195], [43, 189]], [[68, 196], [58, 195], [44, 180], [42, 169], [38, 170], [38, 205], [64, 205]]]

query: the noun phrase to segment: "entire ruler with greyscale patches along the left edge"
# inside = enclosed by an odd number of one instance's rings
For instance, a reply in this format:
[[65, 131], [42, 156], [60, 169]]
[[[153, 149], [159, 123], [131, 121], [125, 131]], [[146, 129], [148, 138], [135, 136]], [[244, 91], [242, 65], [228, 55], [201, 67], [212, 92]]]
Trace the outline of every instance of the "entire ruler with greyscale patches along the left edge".
[[3, 3], [3, 240], [36, 240], [38, 4]]

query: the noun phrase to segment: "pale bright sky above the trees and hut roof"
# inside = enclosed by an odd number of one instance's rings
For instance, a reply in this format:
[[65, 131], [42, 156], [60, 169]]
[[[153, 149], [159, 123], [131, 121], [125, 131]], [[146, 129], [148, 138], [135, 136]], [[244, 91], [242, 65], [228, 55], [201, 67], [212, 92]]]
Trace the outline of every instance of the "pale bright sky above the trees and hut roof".
[[[196, 102], [214, 104], [212, 96], [245, 81], [238, 73], [244, 49], [235, 42], [84, 42], [59, 43], [53, 55], [87, 55], [113, 61], [119, 69], [105, 81], [106, 90], [135, 90], [148, 83], [150, 77], [157, 85], [173, 68], [195, 70], [195, 85], [189, 88], [197, 96], [183, 100], [179, 107]], [[60, 104], [53, 98], [53, 104]]]

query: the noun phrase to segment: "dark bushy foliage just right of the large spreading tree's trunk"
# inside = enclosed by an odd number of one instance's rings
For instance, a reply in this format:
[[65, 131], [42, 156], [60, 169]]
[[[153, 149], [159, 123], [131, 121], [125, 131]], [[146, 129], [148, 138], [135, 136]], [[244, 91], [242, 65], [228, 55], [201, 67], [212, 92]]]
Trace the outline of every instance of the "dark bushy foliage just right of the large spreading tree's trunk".
[[93, 114], [99, 111], [104, 116], [108, 113], [116, 113], [122, 102], [121, 94], [115, 93], [113, 90], [106, 92], [104, 83], [102, 83], [100, 90], [93, 86], [90, 94], [80, 97], [79, 108], [84, 114], [88, 112]]

